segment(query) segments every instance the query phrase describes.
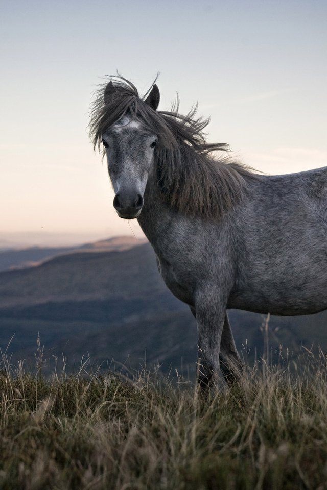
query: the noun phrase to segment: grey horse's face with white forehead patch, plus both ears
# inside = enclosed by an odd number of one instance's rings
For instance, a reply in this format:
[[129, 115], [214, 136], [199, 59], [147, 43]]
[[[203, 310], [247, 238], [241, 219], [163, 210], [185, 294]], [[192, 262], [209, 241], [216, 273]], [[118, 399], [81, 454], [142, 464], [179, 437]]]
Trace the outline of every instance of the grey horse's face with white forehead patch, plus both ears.
[[[114, 96], [114, 91], [114, 85], [109, 82], [104, 92], [105, 101]], [[159, 97], [158, 87], [153, 85], [144, 102], [156, 110]], [[142, 120], [127, 112], [102, 134], [102, 143], [115, 191], [113, 206], [121, 218], [137, 218], [144, 203], [157, 135], [149, 131]]]

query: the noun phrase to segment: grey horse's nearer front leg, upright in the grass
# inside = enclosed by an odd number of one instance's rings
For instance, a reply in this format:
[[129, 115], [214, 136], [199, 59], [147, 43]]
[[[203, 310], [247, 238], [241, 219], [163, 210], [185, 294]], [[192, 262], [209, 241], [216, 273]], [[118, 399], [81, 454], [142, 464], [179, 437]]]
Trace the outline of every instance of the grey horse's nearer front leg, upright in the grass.
[[196, 305], [198, 329], [197, 378], [199, 387], [206, 393], [217, 388], [219, 350], [225, 319], [224, 302], [199, 298]]

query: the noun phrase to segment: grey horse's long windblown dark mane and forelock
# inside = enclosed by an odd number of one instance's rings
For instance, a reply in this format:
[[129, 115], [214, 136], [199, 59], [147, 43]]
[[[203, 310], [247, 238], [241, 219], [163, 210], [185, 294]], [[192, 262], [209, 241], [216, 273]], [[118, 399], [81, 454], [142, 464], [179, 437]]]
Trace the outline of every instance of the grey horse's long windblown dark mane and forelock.
[[196, 118], [197, 106], [179, 114], [179, 99], [171, 111], [155, 111], [145, 103], [150, 90], [139, 97], [136, 87], [122, 77], [110, 77], [115, 90], [105, 101], [104, 84], [92, 103], [89, 134], [100, 150], [102, 134], [129, 113], [158, 136], [157, 180], [162, 197], [174, 209], [189, 215], [218, 217], [240, 202], [246, 191], [245, 176], [253, 170], [228, 156], [226, 143], [207, 143], [203, 130], [209, 119]]

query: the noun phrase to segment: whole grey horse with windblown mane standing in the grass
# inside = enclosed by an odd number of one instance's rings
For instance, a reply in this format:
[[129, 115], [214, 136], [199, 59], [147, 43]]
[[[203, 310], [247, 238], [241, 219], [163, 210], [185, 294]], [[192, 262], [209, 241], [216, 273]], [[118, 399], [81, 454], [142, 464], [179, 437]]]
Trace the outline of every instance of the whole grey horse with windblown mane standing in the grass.
[[[209, 119], [179, 99], [159, 111], [159, 89], [143, 96], [123, 77], [97, 92], [94, 148], [107, 156], [123, 219], [137, 219], [171, 292], [188, 304], [198, 332], [197, 380], [228, 384], [242, 362], [227, 310], [303, 315], [327, 308], [327, 167], [269, 176], [208, 143]], [[201, 389], [200, 389], [201, 391]]]

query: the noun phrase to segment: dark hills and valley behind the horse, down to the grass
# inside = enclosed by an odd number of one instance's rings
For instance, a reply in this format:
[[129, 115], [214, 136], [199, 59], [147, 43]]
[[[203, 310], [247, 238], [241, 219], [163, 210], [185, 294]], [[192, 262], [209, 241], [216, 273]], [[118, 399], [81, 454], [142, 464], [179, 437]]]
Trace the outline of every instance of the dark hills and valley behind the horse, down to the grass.
[[[161, 369], [190, 370], [196, 360], [196, 324], [188, 307], [167, 289], [149, 243], [114, 239], [87, 244], [37, 266], [0, 273], [0, 347], [34, 362], [40, 332], [44, 355], [70, 367], [90, 355], [99, 364], [147, 359]], [[52, 249], [53, 250], [53, 249]], [[263, 352], [263, 315], [231, 310], [240, 352], [253, 360]], [[270, 355], [279, 344], [298, 353], [312, 342], [327, 350], [326, 312], [306, 317], [272, 317]], [[285, 354], [286, 351], [284, 351]], [[285, 354], [286, 355], [286, 354]]]

